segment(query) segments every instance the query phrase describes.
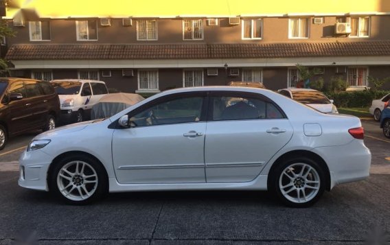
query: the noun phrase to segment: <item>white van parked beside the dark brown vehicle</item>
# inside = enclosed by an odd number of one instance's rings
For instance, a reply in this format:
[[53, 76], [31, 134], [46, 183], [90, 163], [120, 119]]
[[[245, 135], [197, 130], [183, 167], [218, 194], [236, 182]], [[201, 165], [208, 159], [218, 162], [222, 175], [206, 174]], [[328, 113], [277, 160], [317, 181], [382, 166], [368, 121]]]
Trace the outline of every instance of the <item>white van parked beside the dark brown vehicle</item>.
[[60, 97], [61, 121], [80, 122], [91, 117], [91, 108], [108, 94], [103, 81], [62, 79], [50, 81]]

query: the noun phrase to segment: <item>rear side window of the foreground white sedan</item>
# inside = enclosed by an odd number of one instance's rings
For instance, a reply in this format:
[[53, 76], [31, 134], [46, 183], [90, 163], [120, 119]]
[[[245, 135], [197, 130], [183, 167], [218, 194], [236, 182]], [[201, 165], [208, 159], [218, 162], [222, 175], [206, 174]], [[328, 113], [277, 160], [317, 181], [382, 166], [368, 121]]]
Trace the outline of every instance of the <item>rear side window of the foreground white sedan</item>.
[[253, 97], [211, 97], [214, 121], [281, 119], [283, 113], [271, 102]]

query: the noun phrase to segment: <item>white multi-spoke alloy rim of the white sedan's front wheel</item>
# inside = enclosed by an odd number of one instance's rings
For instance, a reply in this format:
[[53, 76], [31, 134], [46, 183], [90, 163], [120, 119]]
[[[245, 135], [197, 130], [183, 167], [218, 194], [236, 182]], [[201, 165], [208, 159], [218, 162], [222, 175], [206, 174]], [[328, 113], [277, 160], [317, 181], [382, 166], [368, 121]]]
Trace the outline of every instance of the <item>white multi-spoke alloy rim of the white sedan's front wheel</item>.
[[87, 200], [98, 188], [98, 174], [89, 163], [71, 161], [58, 172], [57, 186], [60, 193], [69, 200]]

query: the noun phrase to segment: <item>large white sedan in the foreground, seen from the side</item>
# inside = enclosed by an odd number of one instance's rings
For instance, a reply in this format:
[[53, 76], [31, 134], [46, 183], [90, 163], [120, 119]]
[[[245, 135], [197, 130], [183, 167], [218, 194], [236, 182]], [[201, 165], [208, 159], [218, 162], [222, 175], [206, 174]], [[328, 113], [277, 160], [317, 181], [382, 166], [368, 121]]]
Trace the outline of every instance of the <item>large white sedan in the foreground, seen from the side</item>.
[[357, 117], [264, 89], [174, 89], [38, 135], [21, 155], [19, 185], [71, 204], [108, 191], [241, 189], [307, 207], [369, 176], [363, 134]]

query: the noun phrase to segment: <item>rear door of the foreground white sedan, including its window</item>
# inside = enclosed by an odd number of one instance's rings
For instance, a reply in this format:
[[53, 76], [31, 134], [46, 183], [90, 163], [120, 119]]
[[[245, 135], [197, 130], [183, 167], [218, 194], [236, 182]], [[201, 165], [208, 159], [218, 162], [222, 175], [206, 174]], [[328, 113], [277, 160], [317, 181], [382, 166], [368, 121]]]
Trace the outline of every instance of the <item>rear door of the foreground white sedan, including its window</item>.
[[290, 122], [266, 97], [217, 93], [209, 101], [207, 183], [253, 180], [292, 137]]

